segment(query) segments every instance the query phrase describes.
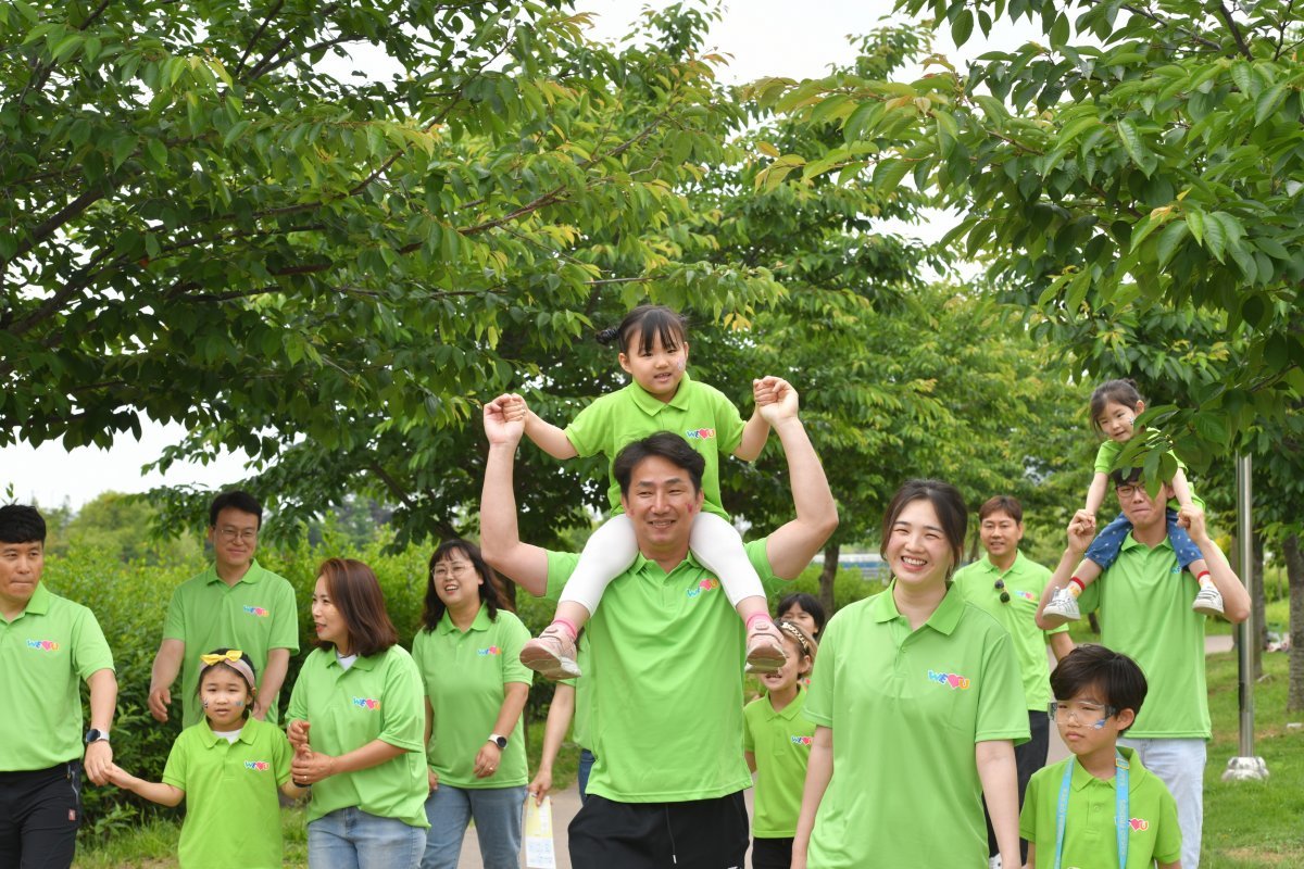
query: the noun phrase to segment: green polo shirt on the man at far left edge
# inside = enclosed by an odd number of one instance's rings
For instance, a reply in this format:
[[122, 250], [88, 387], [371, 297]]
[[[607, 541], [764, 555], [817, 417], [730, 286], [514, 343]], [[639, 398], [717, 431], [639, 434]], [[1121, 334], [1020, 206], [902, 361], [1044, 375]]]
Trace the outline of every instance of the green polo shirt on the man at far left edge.
[[0, 618], [0, 773], [80, 758], [86, 732], [80, 683], [112, 668], [95, 614], [43, 582], [13, 621]]

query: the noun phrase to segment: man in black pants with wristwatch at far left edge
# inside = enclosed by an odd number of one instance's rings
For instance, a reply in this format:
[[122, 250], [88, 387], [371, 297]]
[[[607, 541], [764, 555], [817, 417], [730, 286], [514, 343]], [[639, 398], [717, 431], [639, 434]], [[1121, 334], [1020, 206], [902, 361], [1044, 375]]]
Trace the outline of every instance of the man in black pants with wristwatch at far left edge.
[[0, 866], [70, 866], [82, 770], [104, 784], [113, 765], [113, 655], [95, 614], [42, 585], [44, 565], [46, 520], [0, 507]]

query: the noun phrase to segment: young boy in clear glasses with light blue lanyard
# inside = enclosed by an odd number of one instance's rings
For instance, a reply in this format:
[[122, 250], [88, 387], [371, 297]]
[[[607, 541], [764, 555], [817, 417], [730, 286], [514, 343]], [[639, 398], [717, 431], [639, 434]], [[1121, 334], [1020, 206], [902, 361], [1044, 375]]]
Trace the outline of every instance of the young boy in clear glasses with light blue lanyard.
[[1099, 645], [1068, 653], [1051, 674], [1051, 719], [1073, 757], [1028, 783], [1018, 835], [1028, 869], [1181, 869], [1178, 804], [1119, 736], [1145, 701], [1145, 675]]

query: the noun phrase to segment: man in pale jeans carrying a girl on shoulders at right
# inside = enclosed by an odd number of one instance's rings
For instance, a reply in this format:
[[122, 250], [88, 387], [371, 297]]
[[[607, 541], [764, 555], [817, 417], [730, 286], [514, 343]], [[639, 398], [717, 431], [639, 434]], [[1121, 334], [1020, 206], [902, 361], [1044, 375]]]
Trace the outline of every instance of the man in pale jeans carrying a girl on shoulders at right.
[[[1146, 491], [1140, 469], [1110, 474], [1132, 533], [1119, 558], [1078, 598], [1084, 612], [1099, 608], [1101, 642], [1136, 661], [1150, 692], [1125, 739], [1148, 770], [1158, 775], [1178, 801], [1181, 826], [1181, 865], [1198, 869], [1204, 826], [1205, 743], [1213, 735], [1205, 688], [1205, 619], [1191, 608], [1198, 582], [1181, 569], [1168, 541], [1166, 503], [1172, 496], [1161, 485]], [[1223, 615], [1232, 624], [1249, 616], [1249, 594], [1227, 556], [1209, 537], [1205, 513], [1183, 507], [1178, 524], [1187, 529], [1209, 565], [1223, 597]], [[1081, 513], [1068, 526], [1068, 547], [1037, 610], [1038, 624], [1055, 591], [1067, 586], [1073, 568], [1095, 535], [1094, 522]]]

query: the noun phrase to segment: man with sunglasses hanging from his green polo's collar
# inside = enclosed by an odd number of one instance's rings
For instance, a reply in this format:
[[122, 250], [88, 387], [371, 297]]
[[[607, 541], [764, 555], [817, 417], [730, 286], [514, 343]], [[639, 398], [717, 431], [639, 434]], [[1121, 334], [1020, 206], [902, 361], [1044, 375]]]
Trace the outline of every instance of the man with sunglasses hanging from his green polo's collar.
[[[1028, 701], [1028, 727], [1031, 739], [1015, 747], [1015, 765], [1018, 769], [1018, 808], [1024, 808], [1024, 793], [1033, 773], [1046, 766], [1050, 749], [1050, 722], [1046, 705], [1051, 701], [1050, 663], [1046, 644], [1059, 661], [1073, 650], [1067, 627], [1052, 631], [1037, 627], [1037, 605], [1042, 590], [1050, 582], [1051, 572], [1029, 560], [1018, 551], [1024, 539], [1024, 507], [1011, 495], [996, 495], [978, 508], [978, 535], [987, 555], [956, 571], [952, 581], [965, 599], [990, 612], [1000, 621], [1018, 658], [1018, 672], [1024, 679]], [[1028, 843], [1020, 842], [1024, 860]], [[987, 821], [987, 853], [998, 865], [996, 835]]]

